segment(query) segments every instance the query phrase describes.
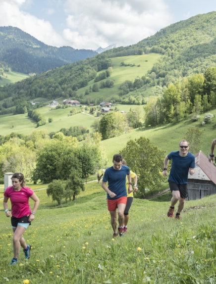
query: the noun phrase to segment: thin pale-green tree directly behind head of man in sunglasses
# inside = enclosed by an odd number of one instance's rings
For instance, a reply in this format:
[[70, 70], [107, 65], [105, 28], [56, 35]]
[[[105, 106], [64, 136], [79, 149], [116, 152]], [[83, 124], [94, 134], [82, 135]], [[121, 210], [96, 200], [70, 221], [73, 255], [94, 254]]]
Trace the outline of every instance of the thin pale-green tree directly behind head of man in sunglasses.
[[185, 140], [189, 142], [190, 152], [196, 154], [201, 149], [204, 131], [198, 127], [189, 127], [185, 134]]

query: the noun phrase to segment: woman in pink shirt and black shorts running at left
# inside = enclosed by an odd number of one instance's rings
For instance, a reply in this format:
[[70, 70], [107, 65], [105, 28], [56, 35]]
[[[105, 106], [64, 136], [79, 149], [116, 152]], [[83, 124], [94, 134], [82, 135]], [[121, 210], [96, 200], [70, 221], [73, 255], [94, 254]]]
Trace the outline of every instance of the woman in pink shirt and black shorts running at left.
[[[11, 180], [12, 187], [9, 187], [4, 191], [3, 207], [6, 217], [11, 217], [13, 229], [13, 258], [10, 265], [15, 265], [18, 262], [20, 247], [23, 248], [25, 259], [30, 258], [31, 245], [26, 244], [22, 235], [35, 219], [35, 213], [40, 201], [34, 191], [25, 186], [23, 174], [15, 173], [12, 175]], [[29, 197], [35, 201], [32, 211], [29, 206]], [[10, 199], [11, 202], [12, 216], [8, 210], [8, 199]]]

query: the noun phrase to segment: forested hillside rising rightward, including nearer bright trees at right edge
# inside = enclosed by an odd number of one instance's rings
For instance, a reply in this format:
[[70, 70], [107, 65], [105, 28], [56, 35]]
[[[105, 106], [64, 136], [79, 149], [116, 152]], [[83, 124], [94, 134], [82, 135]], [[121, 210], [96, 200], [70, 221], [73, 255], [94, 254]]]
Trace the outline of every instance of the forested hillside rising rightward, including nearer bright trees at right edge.
[[[155, 96], [163, 95], [161, 101], [153, 103], [153, 108], [162, 116], [156, 113], [156, 118], [147, 121], [149, 124], [179, 121], [189, 113], [208, 111], [216, 105], [215, 37], [216, 12], [197, 15], [170, 25], [136, 45], [113, 48], [92, 58], [0, 88], [1, 114], [14, 111], [11, 107], [19, 104], [25, 105], [27, 111], [28, 101], [38, 97], [47, 100], [70, 97], [86, 104], [98, 103], [94, 94], [97, 97], [103, 94], [111, 102], [143, 104], [143, 96], [153, 87], [158, 87]], [[149, 57], [144, 60], [143, 54], [155, 54], [157, 61], [154, 57], [156, 63], [134, 78], [133, 68], [143, 68], [150, 60]], [[115, 60], [118, 66], [113, 65], [115, 56], [118, 56]], [[137, 56], [142, 62], [124, 62], [128, 56]], [[127, 75], [121, 73], [121, 79], [126, 79], [115, 88], [117, 76], [112, 77], [112, 71], [119, 66], [127, 70]], [[131, 74], [131, 79], [128, 74]], [[169, 87], [166, 91], [170, 83], [174, 84], [174, 89]], [[197, 103], [202, 106], [195, 107]], [[170, 108], [171, 105], [173, 108]]]

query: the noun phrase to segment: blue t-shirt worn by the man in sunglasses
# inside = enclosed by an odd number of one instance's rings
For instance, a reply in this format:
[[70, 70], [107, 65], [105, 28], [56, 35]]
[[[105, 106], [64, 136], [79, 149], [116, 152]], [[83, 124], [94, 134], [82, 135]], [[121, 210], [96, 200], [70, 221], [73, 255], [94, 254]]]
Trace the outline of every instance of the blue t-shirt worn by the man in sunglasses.
[[172, 160], [168, 181], [178, 185], [187, 184], [189, 168], [195, 168], [194, 155], [188, 152], [187, 156], [182, 157], [179, 155], [179, 151], [173, 151], [169, 153], [167, 157], [169, 160]]

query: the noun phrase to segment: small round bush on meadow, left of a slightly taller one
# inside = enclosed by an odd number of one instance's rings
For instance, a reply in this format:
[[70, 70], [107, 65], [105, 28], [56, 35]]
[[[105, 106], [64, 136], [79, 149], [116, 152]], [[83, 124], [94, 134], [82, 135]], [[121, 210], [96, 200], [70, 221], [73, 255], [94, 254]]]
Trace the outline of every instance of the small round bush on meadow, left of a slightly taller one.
[[66, 182], [62, 180], [53, 180], [52, 183], [48, 185], [47, 195], [52, 196], [53, 201], [57, 201], [58, 205], [61, 205], [61, 201], [64, 195]]

